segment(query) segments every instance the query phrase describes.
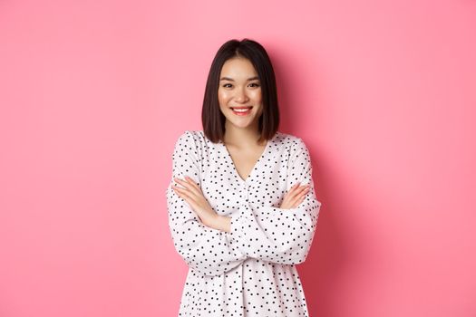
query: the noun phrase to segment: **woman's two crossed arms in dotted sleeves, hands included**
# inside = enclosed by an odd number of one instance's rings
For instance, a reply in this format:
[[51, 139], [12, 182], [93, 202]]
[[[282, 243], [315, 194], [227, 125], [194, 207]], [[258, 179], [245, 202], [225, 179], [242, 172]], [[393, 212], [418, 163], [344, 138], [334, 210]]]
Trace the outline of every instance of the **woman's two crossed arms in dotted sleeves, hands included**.
[[[219, 216], [203, 197], [198, 185], [200, 161], [196, 149], [189, 131], [180, 136], [166, 192], [170, 233], [177, 252], [189, 267], [199, 274], [219, 275], [248, 258], [276, 264], [304, 262], [321, 207], [304, 142], [299, 139], [290, 154], [287, 194], [281, 206], [245, 203], [231, 217]], [[174, 180], [181, 187], [173, 185]], [[299, 184], [307, 184], [307, 189]]]

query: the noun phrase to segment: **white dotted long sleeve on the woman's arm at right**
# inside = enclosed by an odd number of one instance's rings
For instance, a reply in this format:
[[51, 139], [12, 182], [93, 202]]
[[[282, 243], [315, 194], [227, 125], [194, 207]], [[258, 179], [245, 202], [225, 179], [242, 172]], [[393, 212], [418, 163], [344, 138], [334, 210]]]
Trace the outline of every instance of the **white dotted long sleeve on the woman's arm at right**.
[[287, 191], [298, 181], [301, 185], [310, 184], [299, 206], [282, 209], [246, 202], [239, 207], [239, 214], [231, 217], [230, 234], [241, 253], [276, 264], [300, 264], [306, 260], [321, 203], [316, 198], [311, 158], [302, 139], [297, 139], [291, 149]]

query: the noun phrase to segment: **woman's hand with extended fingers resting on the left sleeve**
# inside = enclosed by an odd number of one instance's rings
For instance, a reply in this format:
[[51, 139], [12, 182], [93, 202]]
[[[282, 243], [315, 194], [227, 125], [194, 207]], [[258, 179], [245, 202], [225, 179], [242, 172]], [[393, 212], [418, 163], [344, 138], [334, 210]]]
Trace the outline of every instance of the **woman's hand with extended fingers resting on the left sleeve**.
[[177, 195], [189, 203], [189, 206], [199, 216], [203, 225], [214, 227], [217, 224], [219, 215], [210, 207], [208, 200], [203, 197], [203, 193], [195, 181], [188, 176], [185, 177], [185, 180], [180, 178], [173, 179], [182, 186], [172, 185]]

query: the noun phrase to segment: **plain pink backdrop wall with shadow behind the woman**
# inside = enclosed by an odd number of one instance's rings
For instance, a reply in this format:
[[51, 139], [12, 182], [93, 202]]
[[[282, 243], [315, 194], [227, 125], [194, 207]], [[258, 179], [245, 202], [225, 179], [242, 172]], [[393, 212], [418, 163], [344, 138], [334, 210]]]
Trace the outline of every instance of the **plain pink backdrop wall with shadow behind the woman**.
[[311, 316], [476, 316], [476, 2], [0, 3], [0, 316], [175, 316], [171, 151], [221, 43], [274, 62], [323, 203]]

